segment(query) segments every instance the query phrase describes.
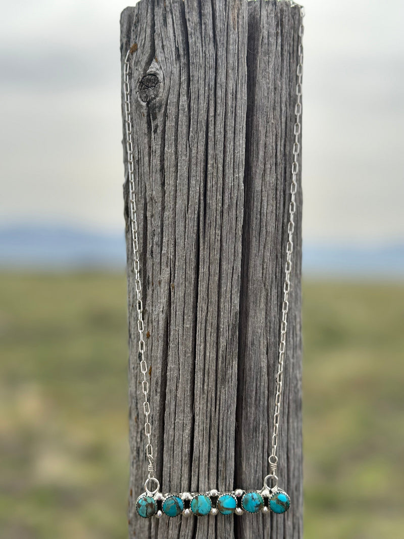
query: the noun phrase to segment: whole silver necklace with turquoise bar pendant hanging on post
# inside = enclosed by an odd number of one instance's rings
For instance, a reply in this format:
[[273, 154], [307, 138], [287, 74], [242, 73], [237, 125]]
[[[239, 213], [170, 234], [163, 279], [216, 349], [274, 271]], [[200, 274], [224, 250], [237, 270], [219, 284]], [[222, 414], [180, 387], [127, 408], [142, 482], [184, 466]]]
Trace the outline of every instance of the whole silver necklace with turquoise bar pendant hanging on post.
[[278, 456], [278, 429], [282, 400], [283, 386], [283, 364], [285, 357], [285, 343], [287, 336], [288, 311], [289, 311], [289, 292], [290, 292], [290, 273], [292, 269], [292, 252], [294, 248], [293, 238], [295, 230], [295, 212], [296, 212], [296, 190], [298, 174], [298, 157], [300, 152], [299, 138], [301, 134], [301, 115], [302, 115], [302, 74], [303, 74], [303, 7], [290, 2], [291, 6], [297, 6], [301, 16], [301, 22], [298, 32], [298, 63], [296, 71], [296, 105], [295, 105], [295, 125], [294, 125], [294, 145], [293, 145], [293, 163], [291, 168], [290, 184], [290, 204], [289, 204], [289, 223], [288, 240], [286, 246], [286, 261], [284, 266], [284, 284], [283, 284], [283, 302], [280, 340], [278, 349], [278, 368], [276, 374], [276, 393], [275, 407], [273, 417], [273, 434], [271, 438], [271, 454], [269, 455], [270, 473], [263, 480], [263, 487], [259, 490], [235, 489], [232, 492], [219, 492], [217, 489], [206, 492], [183, 492], [178, 494], [164, 494], [160, 490], [160, 483], [155, 478], [155, 458], [153, 446], [151, 443], [151, 423], [150, 423], [150, 403], [149, 403], [149, 382], [147, 379], [148, 365], [144, 358], [145, 341], [143, 338], [143, 303], [142, 286], [140, 279], [140, 258], [137, 234], [137, 215], [135, 202], [135, 178], [134, 178], [134, 155], [133, 155], [133, 130], [130, 109], [130, 78], [129, 78], [129, 57], [133, 52], [129, 49], [124, 60], [124, 112], [126, 127], [126, 150], [129, 174], [129, 201], [130, 201], [130, 231], [131, 246], [134, 260], [135, 288], [137, 296], [137, 329], [139, 334], [138, 356], [140, 359], [140, 370], [142, 374], [142, 393], [143, 393], [143, 412], [144, 412], [144, 435], [145, 435], [145, 454], [148, 460], [148, 475], [144, 483], [145, 492], [137, 498], [136, 510], [138, 515], [144, 518], [151, 516], [161, 517], [163, 514], [174, 517], [183, 514], [188, 516], [205, 515], [242, 515], [247, 513], [285, 513], [290, 506], [288, 494], [278, 487], [278, 478], [276, 475]]

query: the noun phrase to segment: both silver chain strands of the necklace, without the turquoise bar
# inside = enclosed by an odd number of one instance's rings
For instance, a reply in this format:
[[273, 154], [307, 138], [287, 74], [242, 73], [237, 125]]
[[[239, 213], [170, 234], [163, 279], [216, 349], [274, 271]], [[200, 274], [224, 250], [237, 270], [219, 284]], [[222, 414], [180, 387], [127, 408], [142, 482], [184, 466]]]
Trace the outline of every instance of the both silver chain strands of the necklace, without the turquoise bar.
[[[271, 439], [271, 454], [268, 458], [270, 466], [270, 474], [264, 479], [264, 488], [268, 490], [274, 489], [274, 485], [267, 484], [270, 479], [277, 486], [277, 448], [278, 448], [278, 430], [281, 413], [282, 389], [283, 389], [283, 364], [285, 358], [285, 347], [288, 327], [288, 312], [289, 312], [289, 292], [290, 278], [292, 271], [292, 253], [294, 250], [293, 236], [295, 231], [295, 213], [296, 213], [296, 191], [297, 191], [297, 175], [299, 170], [299, 153], [300, 153], [300, 135], [301, 135], [301, 116], [302, 116], [302, 75], [303, 75], [303, 6], [290, 2], [292, 6], [297, 6], [300, 10], [301, 23], [298, 32], [298, 64], [297, 64], [297, 83], [296, 83], [296, 105], [295, 105], [295, 125], [294, 125], [294, 144], [293, 144], [293, 163], [291, 168], [291, 185], [290, 185], [290, 203], [289, 203], [289, 223], [288, 223], [288, 241], [286, 245], [286, 262], [284, 268], [284, 283], [283, 283], [283, 302], [282, 302], [282, 319], [280, 331], [280, 344], [278, 355], [278, 370], [276, 375], [276, 395], [275, 395], [275, 411], [273, 419], [273, 434]], [[139, 260], [139, 245], [137, 237], [137, 215], [135, 202], [135, 177], [134, 177], [134, 155], [133, 155], [133, 129], [131, 121], [130, 107], [130, 78], [129, 78], [129, 57], [131, 49], [128, 50], [124, 61], [124, 113], [126, 126], [126, 151], [129, 174], [129, 201], [130, 201], [130, 228], [131, 228], [131, 243], [133, 252], [133, 265], [135, 274], [135, 288], [137, 296], [137, 329], [139, 333], [138, 341], [138, 356], [140, 358], [140, 369], [142, 373], [142, 393], [144, 396], [143, 412], [144, 412], [144, 434], [145, 434], [145, 453], [148, 460], [148, 477], [145, 481], [145, 489], [147, 493], [155, 494], [159, 490], [159, 482], [155, 478], [155, 461], [153, 446], [151, 443], [151, 424], [150, 424], [150, 403], [149, 403], [149, 382], [147, 379], [148, 365], [144, 358], [144, 324], [143, 324], [143, 303], [142, 303], [142, 284], [140, 278], [140, 260]], [[152, 486], [154, 488], [152, 488]]]

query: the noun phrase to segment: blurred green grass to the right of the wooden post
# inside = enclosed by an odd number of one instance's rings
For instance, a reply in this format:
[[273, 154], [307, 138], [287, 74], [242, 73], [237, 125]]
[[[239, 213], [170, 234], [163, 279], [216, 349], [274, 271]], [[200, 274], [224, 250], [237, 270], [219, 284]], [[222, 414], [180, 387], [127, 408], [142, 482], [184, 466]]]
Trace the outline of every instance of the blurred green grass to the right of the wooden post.
[[305, 538], [404, 536], [404, 286], [303, 288]]

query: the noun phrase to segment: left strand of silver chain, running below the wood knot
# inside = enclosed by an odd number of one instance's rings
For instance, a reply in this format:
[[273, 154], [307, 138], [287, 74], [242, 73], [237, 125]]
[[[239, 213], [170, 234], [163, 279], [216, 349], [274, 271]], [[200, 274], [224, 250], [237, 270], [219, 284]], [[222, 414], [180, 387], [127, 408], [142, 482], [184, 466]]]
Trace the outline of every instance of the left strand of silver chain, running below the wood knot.
[[133, 267], [135, 273], [135, 288], [136, 288], [136, 306], [137, 306], [137, 329], [139, 331], [138, 342], [138, 357], [140, 358], [140, 370], [143, 375], [142, 393], [144, 396], [143, 412], [144, 412], [144, 434], [146, 437], [145, 453], [148, 465], [148, 479], [145, 482], [145, 488], [150, 492], [148, 485], [150, 482], [158, 483], [154, 477], [154, 454], [153, 446], [151, 445], [151, 424], [150, 424], [150, 403], [149, 403], [149, 381], [148, 366], [144, 358], [144, 339], [143, 339], [143, 302], [142, 302], [142, 283], [140, 279], [140, 261], [139, 261], [139, 244], [137, 239], [137, 217], [136, 217], [136, 202], [135, 202], [135, 176], [134, 176], [134, 157], [133, 157], [133, 134], [132, 120], [130, 114], [130, 80], [129, 80], [129, 56], [128, 51], [124, 63], [124, 107], [125, 107], [125, 126], [126, 126], [126, 151], [128, 159], [128, 174], [129, 174], [129, 201], [130, 201], [130, 229], [132, 239]]

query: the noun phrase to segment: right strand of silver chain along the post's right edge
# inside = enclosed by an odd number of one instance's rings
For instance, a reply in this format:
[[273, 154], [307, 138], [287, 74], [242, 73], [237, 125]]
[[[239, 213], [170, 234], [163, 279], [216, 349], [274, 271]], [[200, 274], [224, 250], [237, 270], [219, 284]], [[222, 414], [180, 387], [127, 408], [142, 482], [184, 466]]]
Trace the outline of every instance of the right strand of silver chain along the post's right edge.
[[286, 332], [288, 328], [288, 312], [289, 312], [289, 292], [290, 292], [290, 274], [292, 271], [292, 252], [293, 252], [293, 233], [295, 231], [295, 213], [296, 213], [296, 190], [297, 190], [297, 174], [299, 171], [299, 153], [300, 153], [300, 134], [302, 130], [301, 116], [302, 116], [302, 77], [303, 77], [303, 6], [291, 2], [292, 6], [297, 6], [300, 10], [300, 26], [298, 34], [298, 63], [296, 70], [296, 105], [295, 105], [295, 126], [294, 135], [295, 141], [293, 144], [293, 163], [292, 163], [292, 182], [290, 185], [290, 204], [289, 204], [289, 223], [288, 223], [288, 243], [286, 245], [286, 262], [285, 262], [285, 279], [283, 282], [283, 302], [282, 302], [282, 321], [281, 321], [281, 335], [279, 343], [279, 356], [278, 356], [278, 371], [276, 374], [276, 394], [275, 394], [275, 412], [273, 421], [273, 434], [271, 440], [271, 454], [268, 458], [271, 474], [276, 477], [276, 470], [278, 464], [277, 448], [278, 448], [278, 431], [279, 431], [279, 418], [281, 414], [281, 399], [283, 389], [283, 363], [285, 358], [286, 347]]

